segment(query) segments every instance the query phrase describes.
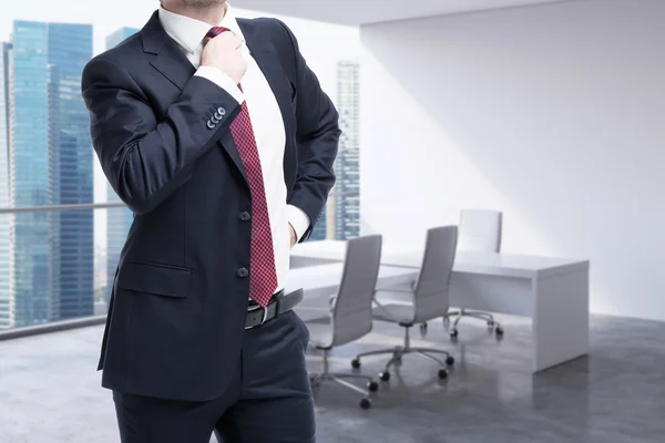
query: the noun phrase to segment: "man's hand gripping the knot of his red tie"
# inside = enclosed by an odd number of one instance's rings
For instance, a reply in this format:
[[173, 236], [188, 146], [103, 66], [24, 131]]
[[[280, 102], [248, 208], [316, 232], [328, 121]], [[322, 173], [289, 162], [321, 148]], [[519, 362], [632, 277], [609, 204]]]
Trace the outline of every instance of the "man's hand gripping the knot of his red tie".
[[241, 83], [243, 75], [247, 72], [247, 61], [238, 50], [243, 41], [233, 32], [222, 32], [214, 39], [206, 39], [201, 65], [216, 68], [231, 79]]

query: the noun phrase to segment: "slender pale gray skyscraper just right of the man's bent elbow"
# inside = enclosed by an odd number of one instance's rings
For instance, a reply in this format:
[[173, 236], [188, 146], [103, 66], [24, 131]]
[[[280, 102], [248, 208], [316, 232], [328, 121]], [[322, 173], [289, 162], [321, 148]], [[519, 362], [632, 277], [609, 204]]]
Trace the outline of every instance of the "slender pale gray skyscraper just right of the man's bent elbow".
[[[337, 64], [337, 109], [342, 131], [335, 162], [337, 183], [332, 190], [335, 231], [338, 240], [360, 235], [360, 66], [358, 62]], [[328, 229], [330, 234], [330, 229]]]

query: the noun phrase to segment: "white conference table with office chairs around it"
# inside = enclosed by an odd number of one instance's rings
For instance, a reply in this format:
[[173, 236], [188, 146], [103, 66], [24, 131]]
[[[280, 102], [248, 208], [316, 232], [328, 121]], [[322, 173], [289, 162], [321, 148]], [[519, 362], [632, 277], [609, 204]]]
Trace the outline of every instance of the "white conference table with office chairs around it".
[[[298, 245], [291, 251], [291, 272], [308, 268], [313, 271], [310, 266], [341, 261], [345, 254], [345, 241]], [[422, 254], [387, 245], [381, 270], [398, 267], [417, 272]], [[378, 286], [400, 284], [396, 279], [379, 281]], [[587, 260], [459, 251], [450, 298], [456, 308], [531, 318], [533, 372], [589, 353]]]

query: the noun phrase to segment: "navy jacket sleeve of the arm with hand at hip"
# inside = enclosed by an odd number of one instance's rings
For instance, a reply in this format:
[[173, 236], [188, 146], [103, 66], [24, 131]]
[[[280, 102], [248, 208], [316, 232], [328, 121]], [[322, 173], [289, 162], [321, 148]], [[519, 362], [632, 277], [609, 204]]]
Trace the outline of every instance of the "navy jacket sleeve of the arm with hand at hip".
[[300, 237], [300, 241], [305, 241], [319, 220], [335, 185], [332, 165], [341, 131], [337, 110], [307, 66], [295, 35], [286, 24], [279, 23], [288, 35], [295, 64], [298, 173], [288, 204], [303, 209], [311, 220]]

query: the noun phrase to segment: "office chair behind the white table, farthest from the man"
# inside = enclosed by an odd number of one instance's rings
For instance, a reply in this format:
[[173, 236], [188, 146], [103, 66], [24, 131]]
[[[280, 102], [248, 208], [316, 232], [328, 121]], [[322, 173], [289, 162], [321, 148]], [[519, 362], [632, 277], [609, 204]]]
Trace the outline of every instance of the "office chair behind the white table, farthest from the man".
[[[472, 253], [499, 253], [501, 250], [502, 226], [503, 216], [498, 210], [462, 210], [460, 215], [460, 238], [458, 241], [458, 250]], [[451, 327], [450, 319], [452, 317], [457, 318], [452, 322]], [[450, 337], [458, 337], [459, 332], [457, 327], [464, 317], [483, 320], [488, 323], [488, 327], [494, 329], [494, 333], [497, 336], [503, 336], [503, 327], [490, 312], [460, 309], [458, 311], [450, 311], [443, 317], [443, 322], [448, 327]]]

